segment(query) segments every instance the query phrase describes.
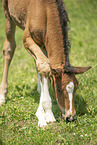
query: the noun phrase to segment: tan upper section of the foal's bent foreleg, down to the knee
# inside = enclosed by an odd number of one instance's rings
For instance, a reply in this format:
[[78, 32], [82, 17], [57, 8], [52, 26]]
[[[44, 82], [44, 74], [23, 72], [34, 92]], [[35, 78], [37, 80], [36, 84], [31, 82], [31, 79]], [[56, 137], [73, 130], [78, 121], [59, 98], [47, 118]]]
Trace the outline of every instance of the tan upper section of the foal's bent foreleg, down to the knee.
[[37, 70], [40, 74], [48, 75], [50, 72], [49, 59], [44, 55], [41, 48], [34, 42], [31, 36], [28, 36], [27, 30], [23, 35], [24, 46], [27, 51], [35, 58]]

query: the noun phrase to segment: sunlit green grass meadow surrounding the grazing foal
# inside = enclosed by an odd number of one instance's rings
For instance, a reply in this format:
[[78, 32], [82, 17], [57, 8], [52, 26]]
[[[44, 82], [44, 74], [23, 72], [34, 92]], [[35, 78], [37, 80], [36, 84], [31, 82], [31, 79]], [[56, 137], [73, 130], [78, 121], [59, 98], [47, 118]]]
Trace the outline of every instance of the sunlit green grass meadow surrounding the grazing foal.
[[[77, 120], [66, 123], [52, 89], [50, 94], [56, 122], [44, 130], [37, 127], [35, 116], [39, 104], [37, 74], [33, 58], [22, 44], [23, 32], [17, 28], [17, 49], [9, 70], [9, 91], [0, 107], [1, 145], [96, 145], [97, 144], [97, 0], [65, 0], [70, 18], [71, 64], [92, 66], [78, 75], [75, 96]], [[2, 55], [4, 14], [0, 1], [0, 82], [3, 75]]]

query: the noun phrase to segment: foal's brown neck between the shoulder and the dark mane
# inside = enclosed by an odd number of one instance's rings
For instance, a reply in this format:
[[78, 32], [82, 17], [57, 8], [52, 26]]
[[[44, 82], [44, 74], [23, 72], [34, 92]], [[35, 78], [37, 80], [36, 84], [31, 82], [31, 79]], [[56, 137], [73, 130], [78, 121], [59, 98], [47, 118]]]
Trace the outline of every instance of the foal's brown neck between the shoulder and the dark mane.
[[47, 33], [45, 46], [52, 68], [62, 68], [65, 64], [65, 48], [62, 26], [57, 3], [47, 6]]

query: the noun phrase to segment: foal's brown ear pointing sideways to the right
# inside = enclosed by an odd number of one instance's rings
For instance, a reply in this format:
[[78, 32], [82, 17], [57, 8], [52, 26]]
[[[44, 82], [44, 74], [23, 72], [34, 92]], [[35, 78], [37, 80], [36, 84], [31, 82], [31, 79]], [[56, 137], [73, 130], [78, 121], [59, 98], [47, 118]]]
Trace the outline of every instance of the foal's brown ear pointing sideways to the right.
[[91, 66], [88, 67], [64, 67], [65, 72], [66, 73], [74, 73], [74, 74], [82, 74], [84, 72], [86, 72], [87, 70], [89, 70], [91, 68]]

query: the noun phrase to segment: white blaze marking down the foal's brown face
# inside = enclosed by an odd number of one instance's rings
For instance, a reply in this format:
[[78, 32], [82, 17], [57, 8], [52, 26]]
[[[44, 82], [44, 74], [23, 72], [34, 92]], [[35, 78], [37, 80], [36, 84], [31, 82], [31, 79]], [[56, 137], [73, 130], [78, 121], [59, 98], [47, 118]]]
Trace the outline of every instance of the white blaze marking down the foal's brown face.
[[70, 82], [70, 83], [66, 86], [66, 90], [67, 90], [67, 92], [68, 92], [69, 101], [70, 101], [70, 113], [72, 114], [72, 99], [73, 99], [74, 83], [73, 83], [73, 82]]

